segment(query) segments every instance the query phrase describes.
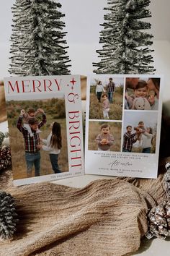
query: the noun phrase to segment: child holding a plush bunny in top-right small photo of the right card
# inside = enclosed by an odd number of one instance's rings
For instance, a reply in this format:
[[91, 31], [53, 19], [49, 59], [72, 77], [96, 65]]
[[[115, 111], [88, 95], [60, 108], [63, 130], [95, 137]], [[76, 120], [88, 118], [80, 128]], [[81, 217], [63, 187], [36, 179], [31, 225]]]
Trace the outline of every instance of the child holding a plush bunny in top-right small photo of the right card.
[[148, 110], [151, 109], [151, 105], [148, 101], [147, 82], [144, 80], [139, 80], [138, 85], [136, 85], [134, 89], [134, 94], [128, 95], [128, 92], [126, 92], [125, 98], [126, 98], [126, 101], [128, 102], [129, 109], [136, 109], [135, 102], [137, 101], [137, 98], [143, 98], [143, 102], [142, 102], [143, 109], [148, 109]]

